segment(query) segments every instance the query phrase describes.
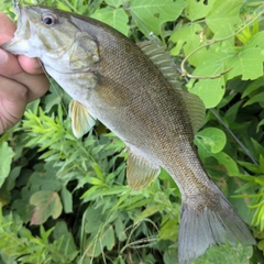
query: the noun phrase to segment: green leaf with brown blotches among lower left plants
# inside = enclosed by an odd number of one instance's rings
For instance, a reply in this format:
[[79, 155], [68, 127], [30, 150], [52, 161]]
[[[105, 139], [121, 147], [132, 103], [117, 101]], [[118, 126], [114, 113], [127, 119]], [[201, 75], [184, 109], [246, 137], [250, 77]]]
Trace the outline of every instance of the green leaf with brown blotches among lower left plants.
[[31, 216], [31, 224], [42, 224], [48, 217], [56, 219], [63, 210], [58, 194], [51, 190], [36, 191], [31, 196], [30, 204], [35, 206]]

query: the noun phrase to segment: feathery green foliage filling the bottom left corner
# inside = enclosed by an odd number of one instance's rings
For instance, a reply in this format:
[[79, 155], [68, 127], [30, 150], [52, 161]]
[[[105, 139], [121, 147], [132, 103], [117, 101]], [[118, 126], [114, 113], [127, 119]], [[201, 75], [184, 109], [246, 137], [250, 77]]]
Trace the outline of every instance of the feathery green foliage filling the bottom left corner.
[[[52, 238], [53, 237], [53, 238]], [[50, 230], [40, 227], [40, 234], [23, 227], [19, 216], [0, 215], [1, 263], [72, 263], [78, 251], [66, 224], [61, 221]]]

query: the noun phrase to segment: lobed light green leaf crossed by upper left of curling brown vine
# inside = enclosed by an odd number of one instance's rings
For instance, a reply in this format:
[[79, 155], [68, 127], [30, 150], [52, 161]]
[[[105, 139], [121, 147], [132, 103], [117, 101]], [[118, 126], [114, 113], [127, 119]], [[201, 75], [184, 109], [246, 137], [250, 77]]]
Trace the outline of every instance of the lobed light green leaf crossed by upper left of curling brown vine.
[[[176, 44], [176, 46], [172, 50], [172, 55], [179, 55], [182, 48], [184, 48], [186, 56], [195, 51], [201, 44], [201, 38], [199, 35], [200, 32], [202, 32], [200, 24], [184, 25], [175, 31], [169, 38], [169, 41]], [[204, 53], [204, 51], [195, 53], [189, 57], [188, 62], [195, 66], [199, 65], [200, 62], [204, 62], [201, 61], [201, 53]]]

